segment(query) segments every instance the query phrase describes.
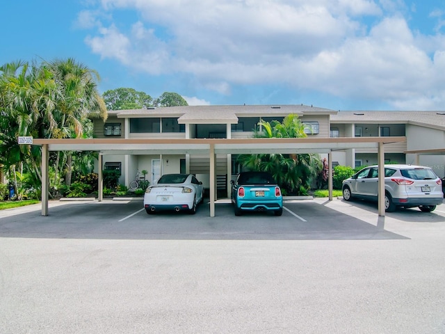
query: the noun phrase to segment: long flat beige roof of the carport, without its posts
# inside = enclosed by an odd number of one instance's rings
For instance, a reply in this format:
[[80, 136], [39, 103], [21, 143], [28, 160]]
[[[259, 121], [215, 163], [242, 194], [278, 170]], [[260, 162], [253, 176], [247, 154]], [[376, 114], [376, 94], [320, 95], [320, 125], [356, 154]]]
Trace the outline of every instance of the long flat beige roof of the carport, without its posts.
[[107, 154], [257, 154], [328, 153], [352, 148], [378, 148], [379, 143], [399, 143], [405, 137], [355, 138], [247, 138], [247, 139], [43, 139], [33, 145], [48, 145], [49, 151], [97, 151]]

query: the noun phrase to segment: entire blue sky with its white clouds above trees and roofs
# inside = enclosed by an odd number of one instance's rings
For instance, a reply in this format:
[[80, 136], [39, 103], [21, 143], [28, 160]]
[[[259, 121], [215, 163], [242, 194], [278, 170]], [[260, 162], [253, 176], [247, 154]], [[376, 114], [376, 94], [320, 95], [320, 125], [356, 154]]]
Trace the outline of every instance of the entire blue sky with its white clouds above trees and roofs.
[[445, 1], [4, 1], [0, 64], [75, 58], [99, 90], [189, 104], [445, 110]]

